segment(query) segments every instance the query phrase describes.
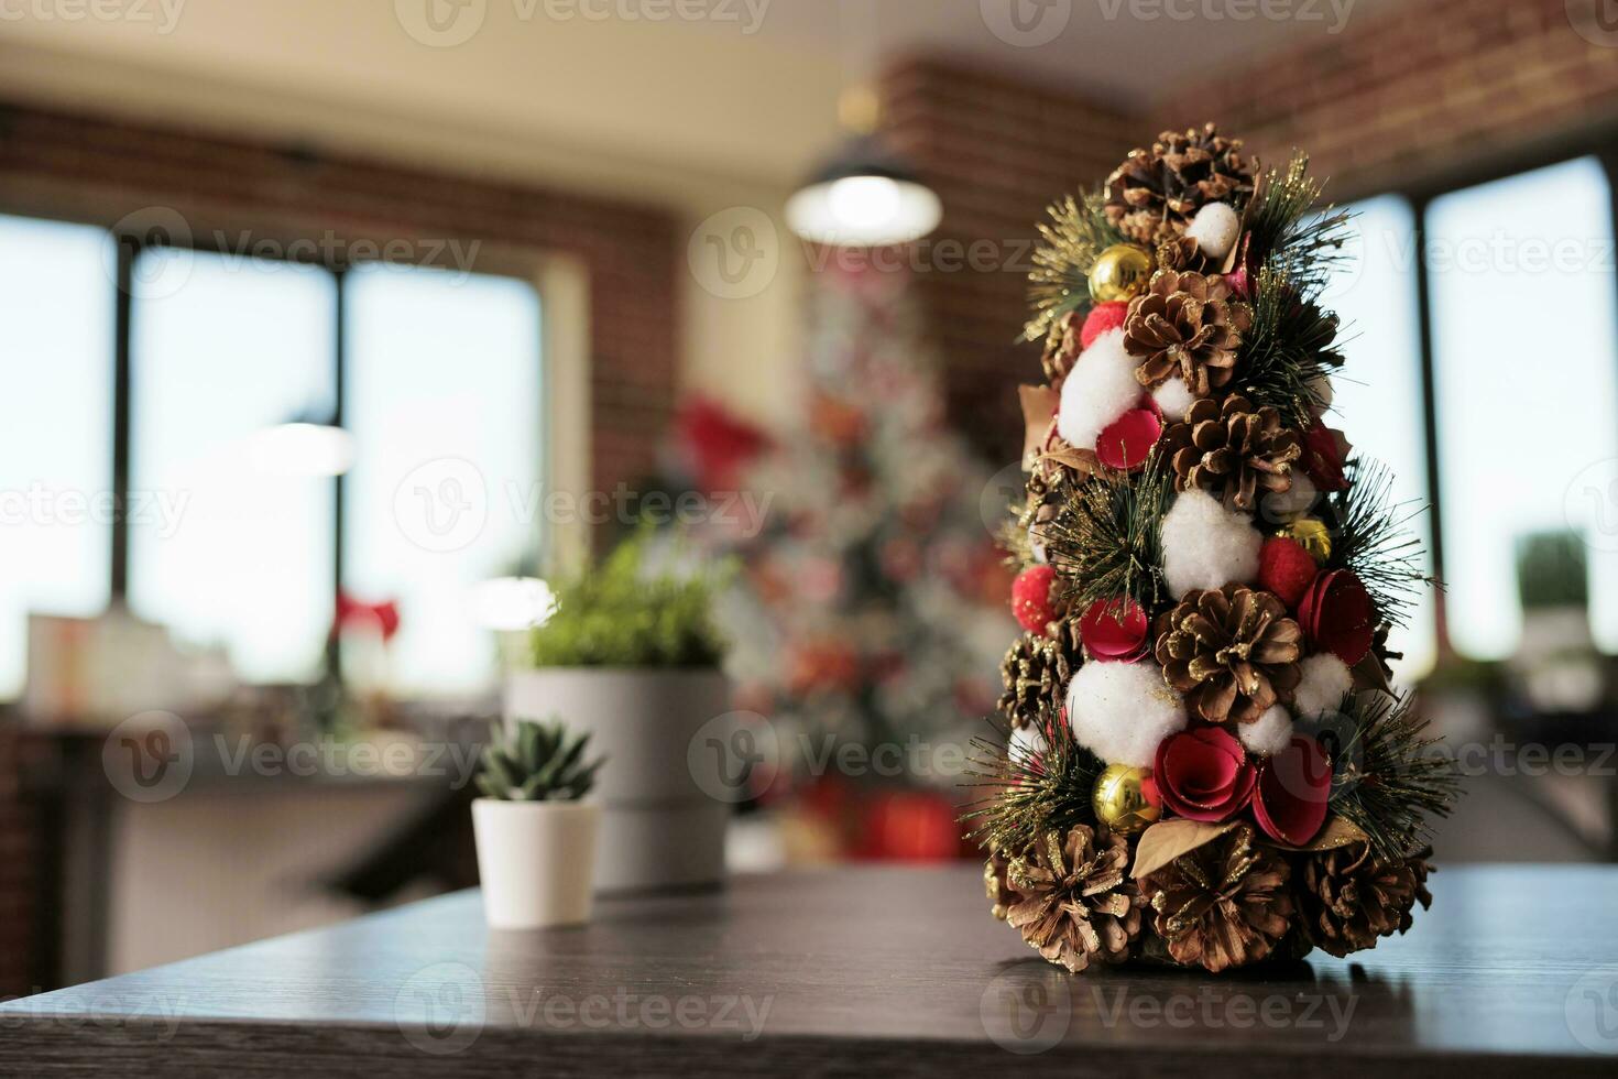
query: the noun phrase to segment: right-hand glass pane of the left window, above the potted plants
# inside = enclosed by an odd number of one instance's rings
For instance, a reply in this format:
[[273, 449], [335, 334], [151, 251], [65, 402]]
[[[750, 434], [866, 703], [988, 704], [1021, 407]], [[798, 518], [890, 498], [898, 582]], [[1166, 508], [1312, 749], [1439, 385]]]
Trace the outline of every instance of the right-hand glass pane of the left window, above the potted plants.
[[348, 280], [343, 578], [395, 600], [390, 683], [492, 684], [493, 641], [469, 589], [539, 539], [539, 296], [518, 280], [369, 265]]

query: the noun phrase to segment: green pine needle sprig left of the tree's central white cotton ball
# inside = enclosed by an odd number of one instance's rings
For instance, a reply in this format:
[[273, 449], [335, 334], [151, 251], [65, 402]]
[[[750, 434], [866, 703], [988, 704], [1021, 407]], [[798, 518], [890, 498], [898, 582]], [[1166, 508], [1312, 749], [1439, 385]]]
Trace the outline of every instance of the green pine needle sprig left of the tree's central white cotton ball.
[[1152, 611], [1168, 597], [1163, 514], [1173, 482], [1154, 451], [1139, 472], [1105, 469], [1076, 485], [1040, 529], [1045, 555], [1076, 610], [1133, 599]]

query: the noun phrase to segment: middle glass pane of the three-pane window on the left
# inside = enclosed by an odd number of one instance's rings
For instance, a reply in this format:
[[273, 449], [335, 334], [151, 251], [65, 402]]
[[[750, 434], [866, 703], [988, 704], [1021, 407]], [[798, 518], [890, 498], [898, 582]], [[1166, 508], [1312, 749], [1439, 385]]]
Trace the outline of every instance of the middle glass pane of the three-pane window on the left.
[[129, 605], [180, 641], [223, 645], [248, 681], [312, 681], [332, 626], [332, 480], [264, 472], [252, 440], [330, 416], [335, 278], [150, 249], [133, 319], [131, 487], [184, 511], [131, 526]]

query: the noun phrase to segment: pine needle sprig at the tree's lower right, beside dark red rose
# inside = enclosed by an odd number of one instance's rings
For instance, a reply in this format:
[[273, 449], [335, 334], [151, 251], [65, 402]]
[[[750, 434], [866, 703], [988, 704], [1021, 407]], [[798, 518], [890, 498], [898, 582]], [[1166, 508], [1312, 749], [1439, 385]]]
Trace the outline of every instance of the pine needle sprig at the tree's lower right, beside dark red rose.
[[1332, 810], [1370, 840], [1379, 857], [1409, 857], [1432, 840], [1432, 819], [1448, 817], [1461, 794], [1455, 759], [1435, 752], [1414, 697], [1351, 692], [1343, 713], [1353, 730], [1333, 767]]

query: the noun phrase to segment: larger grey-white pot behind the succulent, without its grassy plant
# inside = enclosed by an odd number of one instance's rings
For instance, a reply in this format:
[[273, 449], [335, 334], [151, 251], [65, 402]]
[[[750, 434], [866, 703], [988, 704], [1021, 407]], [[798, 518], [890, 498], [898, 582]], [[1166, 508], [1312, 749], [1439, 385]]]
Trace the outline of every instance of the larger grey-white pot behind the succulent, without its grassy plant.
[[718, 883], [731, 806], [688, 764], [691, 744], [717, 736], [730, 688], [717, 670], [553, 666], [506, 679], [505, 717], [557, 717], [589, 731], [605, 755], [589, 801], [604, 809], [597, 891]]

